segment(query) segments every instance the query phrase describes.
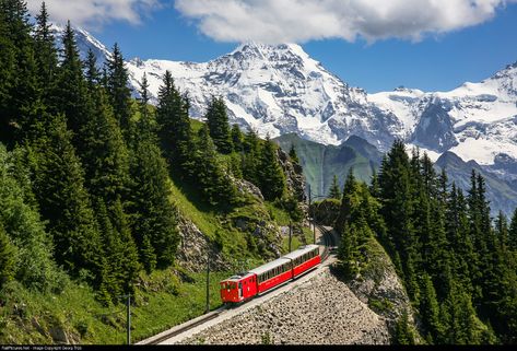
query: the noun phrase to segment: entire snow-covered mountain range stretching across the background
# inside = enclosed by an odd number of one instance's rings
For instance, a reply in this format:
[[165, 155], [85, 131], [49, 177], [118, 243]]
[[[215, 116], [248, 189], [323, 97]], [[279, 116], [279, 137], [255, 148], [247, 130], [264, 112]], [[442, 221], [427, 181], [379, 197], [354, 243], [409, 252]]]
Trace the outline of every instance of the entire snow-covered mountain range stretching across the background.
[[[77, 37], [80, 50], [93, 48], [99, 62], [110, 55], [87, 32], [78, 30]], [[220, 95], [231, 122], [261, 136], [296, 132], [319, 143], [341, 144], [355, 134], [380, 151], [401, 138], [434, 159], [451, 151], [517, 178], [517, 63], [450, 92], [399, 87], [377, 94], [349, 86], [295, 44], [247, 43], [202, 63], [134, 58], [127, 68], [134, 90], [146, 73], [154, 97], [169, 70], [175, 84], [188, 93], [195, 118], [202, 118], [211, 96]]]

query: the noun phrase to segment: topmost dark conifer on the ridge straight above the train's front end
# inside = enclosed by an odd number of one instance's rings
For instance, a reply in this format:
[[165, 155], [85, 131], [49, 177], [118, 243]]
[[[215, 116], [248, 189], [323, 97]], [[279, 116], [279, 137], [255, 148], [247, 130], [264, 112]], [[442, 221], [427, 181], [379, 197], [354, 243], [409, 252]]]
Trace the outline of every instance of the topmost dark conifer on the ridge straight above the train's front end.
[[230, 134], [228, 115], [226, 104], [222, 97], [213, 97], [207, 109], [207, 125], [218, 151], [221, 153], [232, 152], [232, 139]]

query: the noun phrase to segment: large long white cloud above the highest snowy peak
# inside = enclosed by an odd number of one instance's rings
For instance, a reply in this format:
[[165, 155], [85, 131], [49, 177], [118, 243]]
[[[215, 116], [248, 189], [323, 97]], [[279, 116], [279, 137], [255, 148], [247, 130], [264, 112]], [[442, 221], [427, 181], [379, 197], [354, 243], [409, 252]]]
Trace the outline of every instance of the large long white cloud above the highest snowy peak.
[[342, 38], [420, 40], [481, 24], [517, 0], [176, 0], [220, 42], [304, 43]]

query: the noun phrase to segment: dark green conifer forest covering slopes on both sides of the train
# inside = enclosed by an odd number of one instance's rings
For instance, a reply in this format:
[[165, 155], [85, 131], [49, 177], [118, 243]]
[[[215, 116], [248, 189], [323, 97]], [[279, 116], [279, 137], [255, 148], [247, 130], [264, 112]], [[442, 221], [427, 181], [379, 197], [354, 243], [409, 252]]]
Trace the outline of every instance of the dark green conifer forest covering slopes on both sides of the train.
[[[0, 343], [15, 342], [10, 301], [22, 291], [48, 300], [84, 285], [99, 306], [122, 306], [142, 274], [175, 268], [173, 186], [226, 219], [249, 204], [245, 180], [303, 226], [304, 196], [290, 190], [279, 147], [231, 125], [221, 96], [195, 121], [188, 92], [169, 71], [161, 79], [156, 104], [145, 77], [134, 97], [117, 44], [106, 62], [92, 51], [82, 60], [72, 24], [58, 43], [45, 3], [32, 19], [24, 1], [0, 0]], [[289, 160], [302, 165], [294, 148]], [[371, 182], [351, 171], [340, 187], [334, 177], [325, 201], [344, 279], [361, 277], [377, 241], [403, 282], [416, 327], [400, 318], [393, 343], [517, 342], [517, 210], [491, 217], [475, 171], [461, 189], [397, 140]], [[220, 235], [212, 244], [224, 251]], [[245, 237], [244, 256], [272, 257]]]

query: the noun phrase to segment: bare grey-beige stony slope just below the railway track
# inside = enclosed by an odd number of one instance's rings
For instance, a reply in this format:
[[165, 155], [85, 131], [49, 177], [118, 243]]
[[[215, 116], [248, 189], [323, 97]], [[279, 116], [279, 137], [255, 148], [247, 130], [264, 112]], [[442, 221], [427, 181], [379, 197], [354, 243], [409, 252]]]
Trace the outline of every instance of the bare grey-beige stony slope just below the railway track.
[[258, 307], [215, 325], [185, 343], [387, 344], [384, 317], [326, 268]]

